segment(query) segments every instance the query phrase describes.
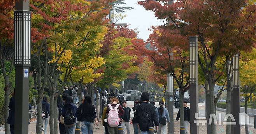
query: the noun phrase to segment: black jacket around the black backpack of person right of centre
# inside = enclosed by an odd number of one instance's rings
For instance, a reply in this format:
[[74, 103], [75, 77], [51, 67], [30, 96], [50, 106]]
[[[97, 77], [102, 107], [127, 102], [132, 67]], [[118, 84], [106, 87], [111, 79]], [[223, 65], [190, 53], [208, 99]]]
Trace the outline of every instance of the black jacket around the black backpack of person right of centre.
[[[147, 109], [147, 108], [149, 109], [150, 114], [151, 114], [151, 119], [152, 119], [150, 122], [150, 124], [151, 124], [150, 126], [151, 127], [153, 127], [154, 125], [158, 126], [159, 123], [158, 123], [158, 119], [156, 117], [156, 110], [155, 110], [154, 106], [149, 104], [148, 102], [143, 102], [140, 104], [140, 107], [142, 107], [143, 109]], [[140, 119], [141, 119], [140, 115], [142, 113], [142, 109], [140, 107], [138, 105], [136, 112], [134, 114], [134, 117], [133, 117], [133, 118], [137, 118], [138, 122], [140, 122]]]

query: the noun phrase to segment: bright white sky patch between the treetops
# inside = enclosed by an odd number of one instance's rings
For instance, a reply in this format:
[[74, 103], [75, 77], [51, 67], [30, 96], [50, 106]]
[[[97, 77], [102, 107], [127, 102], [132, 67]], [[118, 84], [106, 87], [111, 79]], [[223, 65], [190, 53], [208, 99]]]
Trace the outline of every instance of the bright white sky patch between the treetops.
[[143, 0], [124, 0], [126, 5], [122, 6], [133, 7], [133, 9], [126, 10], [124, 13], [126, 17], [118, 20], [116, 23], [130, 24], [130, 29], [136, 29], [136, 31], [139, 32], [138, 38], [142, 38], [144, 41], [146, 41], [149, 38], [149, 34], [152, 33], [152, 31], [149, 31], [151, 26], [163, 25], [163, 21], [157, 20], [154, 12], [147, 11], [144, 9], [144, 7], [138, 5], [138, 1]]

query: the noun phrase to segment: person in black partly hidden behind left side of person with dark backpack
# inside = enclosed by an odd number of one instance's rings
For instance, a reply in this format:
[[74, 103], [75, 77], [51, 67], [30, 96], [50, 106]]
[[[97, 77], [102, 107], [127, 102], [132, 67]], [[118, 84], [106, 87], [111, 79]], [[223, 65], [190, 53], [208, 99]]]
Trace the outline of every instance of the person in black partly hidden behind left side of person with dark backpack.
[[68, 97], [68, 94], [66, 94], [66, 93], [62, 94], [63, 101], [58, 105], [57, 115], [58, 115], [58, 120], [59, 120], [60, 134], [66, 134], [65, 125], [64, 125], [64, 122], [62, 120], [60, 120], [60, 118], [61, 118], [60, 116], [61, 116], [62, 108], [65, 104], [67, 97]]

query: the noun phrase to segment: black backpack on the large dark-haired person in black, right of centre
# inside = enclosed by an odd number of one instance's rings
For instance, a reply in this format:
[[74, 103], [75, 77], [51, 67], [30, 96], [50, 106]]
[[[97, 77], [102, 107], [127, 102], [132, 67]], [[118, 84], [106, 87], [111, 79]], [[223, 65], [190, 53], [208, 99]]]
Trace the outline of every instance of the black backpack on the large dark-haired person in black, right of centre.
[[141, 131], [149, 131], [149, 127], [151, 127], [151, 113], [149, 111], [149, 108], [142, 108], [141, 105], [139, 105], [142, 112], [140, 112], [139, 115], [139, 127]]

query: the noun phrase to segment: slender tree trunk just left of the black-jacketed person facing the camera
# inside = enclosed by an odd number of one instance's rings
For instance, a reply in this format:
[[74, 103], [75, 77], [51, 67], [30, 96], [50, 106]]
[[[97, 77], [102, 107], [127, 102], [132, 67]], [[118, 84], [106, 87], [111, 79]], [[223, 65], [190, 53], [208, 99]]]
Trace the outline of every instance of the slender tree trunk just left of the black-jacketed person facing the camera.
[[[180, 104], [180, 107], [179, 107], [179, 110], [180, 110], [180, 124], [181, 124], [181, 127], [183, 127], [183, 129], [185, 128], [185, 124], [184, 124], [184, 107], [183, 107], [183, 101], [184, 101], [184, 91], [183, 89], [180, 87], [180, 101], [179, 101], [179, 104]], [[180, 131], [180, 134], [185, 134], [184, 131]]]

